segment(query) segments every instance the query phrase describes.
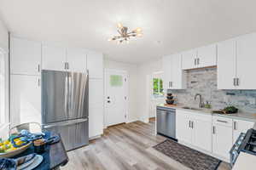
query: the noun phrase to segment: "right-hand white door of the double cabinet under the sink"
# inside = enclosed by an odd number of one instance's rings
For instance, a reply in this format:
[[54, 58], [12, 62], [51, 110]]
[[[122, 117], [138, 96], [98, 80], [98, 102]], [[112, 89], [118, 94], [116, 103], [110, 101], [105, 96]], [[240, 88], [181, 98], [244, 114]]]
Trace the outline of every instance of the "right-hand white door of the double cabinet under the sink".
[[212, 152], [212, 122], [193, 120], [192, 143]]

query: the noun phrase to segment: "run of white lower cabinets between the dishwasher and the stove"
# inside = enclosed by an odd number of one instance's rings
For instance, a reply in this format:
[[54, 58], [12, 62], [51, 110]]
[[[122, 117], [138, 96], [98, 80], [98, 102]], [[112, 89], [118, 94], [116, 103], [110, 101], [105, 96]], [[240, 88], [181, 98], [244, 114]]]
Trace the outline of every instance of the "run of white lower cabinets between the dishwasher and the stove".
[[255, 122], [212, 116], [195, 111], [176, 110], [176, 137], [179, 142], [205, 150], [224, 161], [230, 160], [230, 149], [240, 133], [246, 133]]

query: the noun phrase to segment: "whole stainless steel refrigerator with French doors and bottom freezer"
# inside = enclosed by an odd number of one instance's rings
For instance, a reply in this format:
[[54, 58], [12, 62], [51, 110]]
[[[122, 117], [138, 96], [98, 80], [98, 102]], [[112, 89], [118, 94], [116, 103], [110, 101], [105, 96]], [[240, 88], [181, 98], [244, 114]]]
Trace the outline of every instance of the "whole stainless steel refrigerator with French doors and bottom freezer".
[[89, 144], [88, 72], [42, 71], [42, 125], [66, 150]]

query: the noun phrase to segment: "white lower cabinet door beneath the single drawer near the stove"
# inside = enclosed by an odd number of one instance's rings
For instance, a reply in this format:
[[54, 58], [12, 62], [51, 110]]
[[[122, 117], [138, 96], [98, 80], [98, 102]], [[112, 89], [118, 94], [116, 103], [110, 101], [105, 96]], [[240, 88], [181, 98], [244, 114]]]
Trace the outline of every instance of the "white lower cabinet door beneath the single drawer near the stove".
[[229, 160], [232, 144], [232, 127], [213, 124], [212, 152]]

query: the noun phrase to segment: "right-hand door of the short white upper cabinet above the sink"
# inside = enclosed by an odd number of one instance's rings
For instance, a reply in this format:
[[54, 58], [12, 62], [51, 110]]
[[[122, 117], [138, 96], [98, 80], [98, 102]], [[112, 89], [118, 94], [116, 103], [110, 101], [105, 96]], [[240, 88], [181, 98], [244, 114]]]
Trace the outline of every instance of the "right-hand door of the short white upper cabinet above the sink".
[[197, 49], [197, 67], [217, 65], [216, 44]]

